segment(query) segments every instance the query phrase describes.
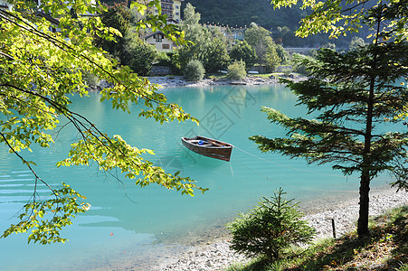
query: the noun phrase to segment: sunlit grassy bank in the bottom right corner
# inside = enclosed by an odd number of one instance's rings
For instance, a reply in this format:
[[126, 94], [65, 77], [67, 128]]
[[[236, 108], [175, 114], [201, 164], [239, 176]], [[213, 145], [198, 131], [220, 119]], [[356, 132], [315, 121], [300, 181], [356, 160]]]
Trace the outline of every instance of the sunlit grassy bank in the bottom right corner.
[[308, 248], [292, 248], [274, 263], [253, 259], [225, 271], [275, 270], [403, 270], [408, 271], [408, 205], [390, 210], [370, 223], [371, 235], [356, 232], [320, 240]]

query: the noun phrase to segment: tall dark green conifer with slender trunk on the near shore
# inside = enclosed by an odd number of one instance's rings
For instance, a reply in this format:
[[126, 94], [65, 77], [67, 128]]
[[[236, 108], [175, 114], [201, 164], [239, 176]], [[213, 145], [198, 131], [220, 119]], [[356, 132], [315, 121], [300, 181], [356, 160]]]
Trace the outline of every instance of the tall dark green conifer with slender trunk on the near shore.
[[[378, 5], [365, 17], [374, 31], [373, 43], [344, 54], [323, 49], [316, 60], [302, 58], [301, 64], [308, 67], [311, 77], [285, 82], [299, 96], [299, 104], [306, 105], [309, 113], [318, 113], [317, 119], [290, 118], [263, 107], [272, 123], [289, 130], [288, 137], [251, 137], [262, 152], [303, 157], [310, 164], [333, 164], [346, 175], [357, 173], [359, 237], [368, 234], [370, 182], [375, 176], [391, 173], [394, 186], [408, 189], [408, 128], [390, 126], [401, 124], [408, 114], [404, 82], [408, 77], [408, 44], [404, 38], [392, 38], [393, 27], [397, 30], [401, 25], [388, 23], [407, 14], [406, 1]], [[384, 127], [393, 131], [384, 132]]]

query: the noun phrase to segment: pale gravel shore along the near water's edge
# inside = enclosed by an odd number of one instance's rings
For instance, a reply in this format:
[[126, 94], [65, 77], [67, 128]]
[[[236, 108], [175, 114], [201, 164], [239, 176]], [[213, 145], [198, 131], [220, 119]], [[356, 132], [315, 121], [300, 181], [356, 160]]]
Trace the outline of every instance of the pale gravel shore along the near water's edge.
[[[370, 216], [378, 216], [384, 211], [394, 207], [408, 204], [408, 192], [396, 192], [394, 189], [372, 192], [370, 196]], [[345, 234], [347, 231], [356, 228], [358, 218], [358, 200], [342, 202], [333, 205], [328, 210], [318, 213], [308, 214], [305, 217], [309, 225], [318, 230], [316, 240], [332, 236], [332, 221], [335, 220], [337, 237]], [[215, 240], [212, 244], [206, 246], [191, 247], [172, 259], [166, 259], [160, 265], [160, 270], [166, 271], [214, 271], [223, 270], [223, 268], [233, 263], [245, 263], [249, 259], [235, 254], [229, 248], [227, 238]]]

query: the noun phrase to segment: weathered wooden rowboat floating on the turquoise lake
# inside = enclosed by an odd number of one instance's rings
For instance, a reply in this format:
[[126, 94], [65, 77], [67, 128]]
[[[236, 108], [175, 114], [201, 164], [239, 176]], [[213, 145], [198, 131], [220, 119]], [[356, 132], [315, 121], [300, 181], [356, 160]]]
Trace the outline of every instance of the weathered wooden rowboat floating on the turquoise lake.
[[185, 147], [197, 154], [202, 154], [223, 161], [230, 161], [232, 145], [204, 136], [193, 138], [182, 137], [181, 142]]

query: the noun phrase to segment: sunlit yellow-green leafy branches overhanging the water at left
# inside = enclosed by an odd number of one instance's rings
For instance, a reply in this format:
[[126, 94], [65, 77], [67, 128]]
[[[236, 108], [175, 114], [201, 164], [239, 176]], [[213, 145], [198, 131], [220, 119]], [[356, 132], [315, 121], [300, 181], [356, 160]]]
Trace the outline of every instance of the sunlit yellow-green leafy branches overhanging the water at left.
[[[161, 124], [188, 119], [197, 122], [181, 107], [167, 103], [166, 96], [157, 92], [157, 85], [138, 77], [127, 66], [118, 65], [107, 51], [94, 46], [96, 36], [109, 41], [121, 36], [118, 30], [106, 27], [100, 17], [82, 15], [107, 13], [106, 7], [91, 1], [47, 1], [39, 6], [31, 1], [9, 2], [14, 11], [0, 9], [0, 143], [27, 166], [34, 181], [33, 196], [27, 199], [19, 222], [5, 229], [2, 238], [31, 230], [29, 241], [65, 241], [59, 235], [62, 227], [70, 225], [76, 213], [89, 209], [81, 202], [84, 197], [70, 186], [51, 186], [51, 180], [43, 180], [35, 171], [35, 162], [26, 160], [22, 153], [31, 151], [33, 145], [52, 146], [58, 130], [69, 127], [80, 136], [66, 143], [71, 150], [57, 166], [94, 163], [113, 178], [124, 173], [141, 187], [156, 183], [188, 195], [194, 195], [195, 190], [205, 191], [193, 180], [179, 173], [165, 173], [153, 165], [148, 161], [151, 150], [128, 145], [120, 135], [107, 135], [90, 119], [71, 110], [72, 95], [88, 94], [83, 74], [91, 74], [110, 84], [110, 88], [100, 91], [100, 99], [115, 109], [129, 112], [129, 107], [139, 104], [144, 106], [139, 117], [152, 117]], [[160, 9], [158, 1], [149, 5]], [[135, 6], [140, 12], [146, 10], [144, 5]], [[61, 32], [52, 33], [51, 23], [36, 16], [39, 10], [58, 18]], [[166, 24], [162, 15], [151, 16], [138, 26], [147, 24], [166, 33], [169, 39], [183, 37], [173, 25]], [[66, 121], [66, 125], [58, 126], [60, 121]], [[45, 185], [51, 196], [39, 194], [40, 185]]]

